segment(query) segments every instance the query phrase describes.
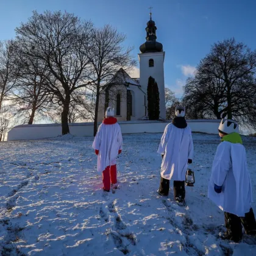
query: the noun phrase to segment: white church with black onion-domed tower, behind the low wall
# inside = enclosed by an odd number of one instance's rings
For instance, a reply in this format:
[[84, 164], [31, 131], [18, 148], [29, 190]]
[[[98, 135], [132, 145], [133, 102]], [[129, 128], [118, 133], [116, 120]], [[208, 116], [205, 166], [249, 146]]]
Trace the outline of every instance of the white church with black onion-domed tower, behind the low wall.
[[148, 83], [152, 77], [158, 86], [160, 99], [160, 117], [165, 120], [165, 77], [163, 44], [157, 41], [157, 27], [150, 20], [146, 27], [146, 42], [140, 46], [138, 60], [140, 77], [130, 77], [123, 68], [105, 85], [105, 90], [99, 98], [98, 122], [101, 123], [107, 107], [115, 108], [118, 121], [135, 121], [148, 119]]

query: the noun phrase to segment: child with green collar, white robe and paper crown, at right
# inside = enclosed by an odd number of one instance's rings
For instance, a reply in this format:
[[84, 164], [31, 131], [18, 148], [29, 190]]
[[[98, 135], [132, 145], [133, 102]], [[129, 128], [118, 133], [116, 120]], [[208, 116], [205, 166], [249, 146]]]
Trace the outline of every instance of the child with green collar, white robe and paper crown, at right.
[[227, 231], [222, 238], [238, 242], [242, 238], [241, 223], [246, 234], [256, 234], [251, 178], [238, 123], [222, 119], [219, 136], [222, 142], [213, 160], [208, 197], [224, 211]]

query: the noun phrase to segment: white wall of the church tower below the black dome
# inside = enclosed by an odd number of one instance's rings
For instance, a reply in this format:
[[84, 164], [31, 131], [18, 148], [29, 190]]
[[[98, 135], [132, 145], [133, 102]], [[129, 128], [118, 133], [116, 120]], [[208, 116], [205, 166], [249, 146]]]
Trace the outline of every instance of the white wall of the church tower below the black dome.
[[[140, 61], [140, 85], [141, 89], [147, 93], [148, 80], [152, 76], [158, 85], [160, 98], [160, 116], [166, 118], [165, 109], [165, 74], [163, 63], [165, 60], [165, 52], [147, 52], [138, 54]], [[149, 67], [149, 60], [154, 60], [154, 67]], [[146, 98], [148, 101], [148, 97]], [[143, 110], [144, 112], [144, 110]]]

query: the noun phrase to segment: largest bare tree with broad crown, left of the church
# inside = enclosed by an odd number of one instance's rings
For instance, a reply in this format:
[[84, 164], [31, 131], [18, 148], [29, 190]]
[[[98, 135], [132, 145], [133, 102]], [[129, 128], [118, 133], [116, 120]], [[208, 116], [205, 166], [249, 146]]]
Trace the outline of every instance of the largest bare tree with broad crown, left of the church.
[[68, 114], [72, 94], [91, 84], [90, 51], [92, 24], [70, 13], [33, 12], [27, 23], [16, 29], [23, 54], [38, 59], [54, 76], [44, 90], [54, 94], [62, 106], [62, 134], [69, 133]]

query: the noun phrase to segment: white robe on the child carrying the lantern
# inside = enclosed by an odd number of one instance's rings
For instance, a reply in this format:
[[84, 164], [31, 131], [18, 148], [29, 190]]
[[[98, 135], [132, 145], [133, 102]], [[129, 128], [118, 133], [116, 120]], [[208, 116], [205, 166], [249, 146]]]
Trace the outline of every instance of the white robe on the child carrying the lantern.
[[157, 152], [163, 155], [161, 176], [168, 180], [185, 180], [188, 159], [193, 159], [194, 152], [190, 127], [180, 129], [168, 124]]

